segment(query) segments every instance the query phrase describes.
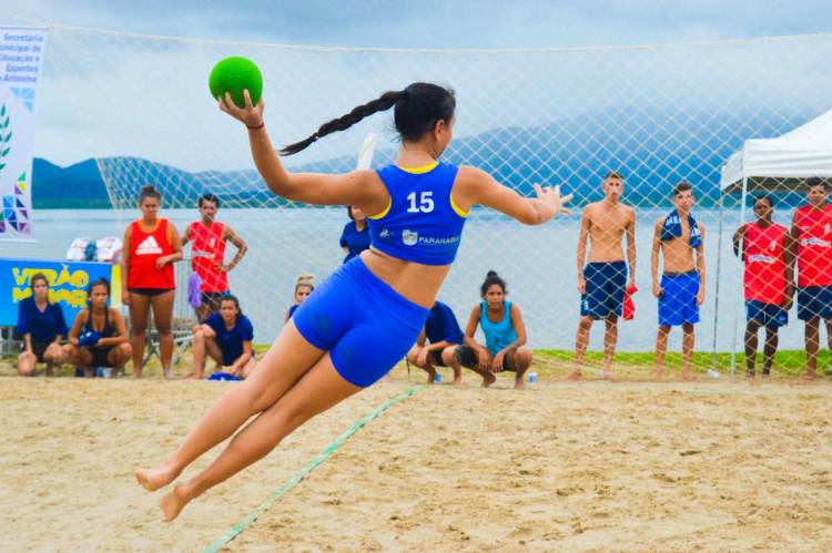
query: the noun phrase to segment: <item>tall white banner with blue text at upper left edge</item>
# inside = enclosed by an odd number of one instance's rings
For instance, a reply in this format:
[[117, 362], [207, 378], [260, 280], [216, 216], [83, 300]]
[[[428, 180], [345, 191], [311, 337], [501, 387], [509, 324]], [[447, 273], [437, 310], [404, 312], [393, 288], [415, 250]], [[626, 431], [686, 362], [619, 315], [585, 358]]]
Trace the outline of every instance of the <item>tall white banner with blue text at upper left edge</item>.
[[0, 27], [0, 239], [32, 233], [34, 95], [47, 30]]

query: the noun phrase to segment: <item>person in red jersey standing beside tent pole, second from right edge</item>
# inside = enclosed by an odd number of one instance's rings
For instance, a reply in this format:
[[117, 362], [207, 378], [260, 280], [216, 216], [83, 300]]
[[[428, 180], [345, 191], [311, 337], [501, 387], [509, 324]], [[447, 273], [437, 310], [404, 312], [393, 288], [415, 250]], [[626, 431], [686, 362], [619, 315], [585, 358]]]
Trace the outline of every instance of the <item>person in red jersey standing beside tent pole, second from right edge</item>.
[[757, 373], [757, 331], [765, 328], [763, 378], [771, 375], [778, 350], [778, 329], [789, 324], [794, 295], [794, 238], [783, 225], [771, 221], [771, 196], [754, 201], [757, 221], [733, 233], [733, 252], [745, 264], [745, 373]]

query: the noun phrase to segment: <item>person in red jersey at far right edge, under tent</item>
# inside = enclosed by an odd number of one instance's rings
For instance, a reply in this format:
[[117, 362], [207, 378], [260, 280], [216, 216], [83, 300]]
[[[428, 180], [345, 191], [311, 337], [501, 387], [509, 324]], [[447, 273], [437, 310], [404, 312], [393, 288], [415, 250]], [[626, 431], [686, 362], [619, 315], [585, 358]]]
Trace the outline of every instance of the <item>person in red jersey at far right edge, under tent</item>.
[[806, 181], [806, 205], [792, 218], [792, 236], [798, 243], [798, 318], [805, 321], [806, 372], [818, 372], [820, 324], [826, 324], [826, 341], [832, 349], [832, 205], [826, 203], [829, 183]]

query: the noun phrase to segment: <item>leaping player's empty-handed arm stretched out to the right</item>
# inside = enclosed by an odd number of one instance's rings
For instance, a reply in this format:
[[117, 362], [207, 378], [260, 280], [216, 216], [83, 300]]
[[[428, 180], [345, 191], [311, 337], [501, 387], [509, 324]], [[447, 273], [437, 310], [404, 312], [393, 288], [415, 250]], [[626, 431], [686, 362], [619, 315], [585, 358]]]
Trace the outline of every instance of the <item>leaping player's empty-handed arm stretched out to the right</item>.
[[[458, 193], [458, 195], [457, 195]], [[505, 213], [526, 225], [540, 225], [559, 213], [569, 213], [565, 205], [571, 194], [560, 195], [560, 187], [535, 185], [537, 197], [522, 197], [490, 175], [475, 167], [461, 166], [454, 185], [454, 201], [463, 209], [481, 204]]]

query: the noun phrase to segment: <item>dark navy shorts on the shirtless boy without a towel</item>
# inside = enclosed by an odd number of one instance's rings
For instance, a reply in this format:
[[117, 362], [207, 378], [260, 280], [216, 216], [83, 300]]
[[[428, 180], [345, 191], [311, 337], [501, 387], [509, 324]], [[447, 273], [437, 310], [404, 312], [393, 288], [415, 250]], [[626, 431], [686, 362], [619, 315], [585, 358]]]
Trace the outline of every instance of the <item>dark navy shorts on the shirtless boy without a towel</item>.
[[621, 316], [627, 290], [627, 264], [625, 262], [588, 263], [584, 267], [586, 293], [580, 296], [580, 316], [606, 319], [610, 315]]

